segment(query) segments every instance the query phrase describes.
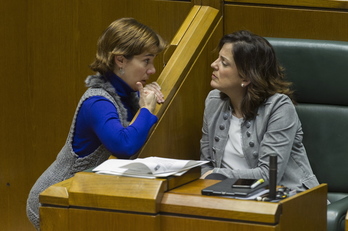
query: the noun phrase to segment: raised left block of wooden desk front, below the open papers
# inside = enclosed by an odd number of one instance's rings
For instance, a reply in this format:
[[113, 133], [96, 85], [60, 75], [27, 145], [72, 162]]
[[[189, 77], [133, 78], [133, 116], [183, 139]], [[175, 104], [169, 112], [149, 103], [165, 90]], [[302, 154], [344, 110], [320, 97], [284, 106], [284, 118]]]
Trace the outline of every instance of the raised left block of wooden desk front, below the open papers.
[[69, 189], [69, 204], [79, 207], [156, 213], [166, 180], [77, 173]]

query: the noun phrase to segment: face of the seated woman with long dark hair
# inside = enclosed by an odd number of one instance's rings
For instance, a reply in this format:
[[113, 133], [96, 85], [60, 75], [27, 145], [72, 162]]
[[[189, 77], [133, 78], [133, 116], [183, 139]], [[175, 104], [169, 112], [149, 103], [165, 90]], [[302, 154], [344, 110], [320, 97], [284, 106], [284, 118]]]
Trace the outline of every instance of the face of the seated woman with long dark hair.
[[232, 48], [232, 43], [225, 43], [219, 52], [219, 57], [211, 64], [214, 71], [210, 85], [225, 94], [240, 89], [243, 82], [232, 56]]

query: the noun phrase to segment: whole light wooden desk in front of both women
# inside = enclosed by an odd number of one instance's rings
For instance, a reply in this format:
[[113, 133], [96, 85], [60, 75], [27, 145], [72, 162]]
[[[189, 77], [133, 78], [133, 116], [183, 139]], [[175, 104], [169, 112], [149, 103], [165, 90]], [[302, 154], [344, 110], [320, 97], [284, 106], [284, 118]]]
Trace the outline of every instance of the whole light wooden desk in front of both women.
[[326, 230], [325, 184], [272, 203], [201, 195], [215, 180], [169, 182], [78, 173], [40, 195], [41, 230]]

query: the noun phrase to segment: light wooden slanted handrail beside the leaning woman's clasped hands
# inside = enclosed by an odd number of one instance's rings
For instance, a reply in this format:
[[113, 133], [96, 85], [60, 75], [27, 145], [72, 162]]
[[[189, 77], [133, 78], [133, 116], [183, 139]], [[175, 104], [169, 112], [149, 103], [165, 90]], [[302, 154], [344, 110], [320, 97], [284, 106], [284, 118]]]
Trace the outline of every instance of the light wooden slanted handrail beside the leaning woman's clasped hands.
[[183, 77], [203, 47], [219, 11], [209, 6], [194, 6], [171, 44], [176, 48], [157, 79], [166, 102], [157, 105], [155, 115], [160, 117], [168, 106]]

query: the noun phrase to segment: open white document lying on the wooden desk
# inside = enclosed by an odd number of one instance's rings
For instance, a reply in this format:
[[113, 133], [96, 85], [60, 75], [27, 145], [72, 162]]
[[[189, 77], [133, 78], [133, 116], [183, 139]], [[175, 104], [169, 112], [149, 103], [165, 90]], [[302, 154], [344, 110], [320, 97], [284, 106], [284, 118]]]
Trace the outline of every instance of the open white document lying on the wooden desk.
[[199, 160], [181, 160], [163, 157], [137, 158], [135, 160], [109, 159], [93, 169], [96, 173], [156, 178], [180, 176], [187, 170], [208, 163]]

